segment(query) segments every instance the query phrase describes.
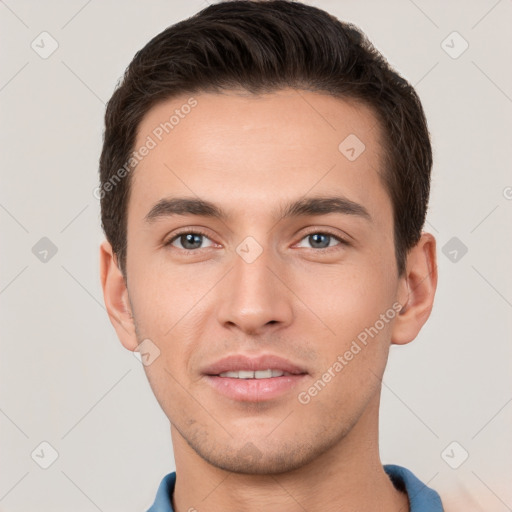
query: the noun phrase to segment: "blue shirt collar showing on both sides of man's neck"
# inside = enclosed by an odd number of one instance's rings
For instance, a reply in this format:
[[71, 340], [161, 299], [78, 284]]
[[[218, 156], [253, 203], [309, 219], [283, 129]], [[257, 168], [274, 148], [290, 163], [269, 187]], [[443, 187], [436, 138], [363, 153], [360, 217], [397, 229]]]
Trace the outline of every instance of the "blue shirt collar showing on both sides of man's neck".
[[[409, 496], [409, 512], [443, 512], [439, 494], [418, 480], [411, 471], [401, 466], [387, 464], [384, 470], [399, 490]], [[176, 483], [176, 473], [169, 473], [160, 483], [155, 502], [147, 512], [174, 512], [171, 497]]]

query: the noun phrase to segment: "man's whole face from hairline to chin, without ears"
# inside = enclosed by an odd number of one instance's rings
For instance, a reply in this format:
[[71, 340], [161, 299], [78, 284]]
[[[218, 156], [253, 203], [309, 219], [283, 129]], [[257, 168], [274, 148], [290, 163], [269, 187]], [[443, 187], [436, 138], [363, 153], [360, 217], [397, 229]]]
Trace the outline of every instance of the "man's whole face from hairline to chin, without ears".
[[400, 308], [376, 118], [306, 91], [199, 94], [148, 112], [150, 139], [127, 290], [175, 449], [242, 473], [313, 461], [375, 412]]

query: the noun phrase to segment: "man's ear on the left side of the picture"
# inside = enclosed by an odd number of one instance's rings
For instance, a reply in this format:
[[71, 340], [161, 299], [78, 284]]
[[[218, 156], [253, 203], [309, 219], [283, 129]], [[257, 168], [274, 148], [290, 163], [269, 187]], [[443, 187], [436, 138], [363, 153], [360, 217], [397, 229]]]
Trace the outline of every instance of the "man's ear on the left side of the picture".
[[125, 348], [133, 351], [137, 348], [137, 336], [128, 289], [112, 246], [106, 240], [100, 245], [100, 277], [105, 306], [117, 337]]

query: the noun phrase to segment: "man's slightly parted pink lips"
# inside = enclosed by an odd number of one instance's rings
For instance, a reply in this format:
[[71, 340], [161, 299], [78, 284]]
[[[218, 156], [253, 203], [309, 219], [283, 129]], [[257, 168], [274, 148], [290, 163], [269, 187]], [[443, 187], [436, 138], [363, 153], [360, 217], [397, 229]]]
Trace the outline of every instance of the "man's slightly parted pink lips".
[[[268, 379], [219, 377], [220, 373], [240, 370], [281, 370], [291, 375]], [[236, 354], [220, 359], [203, 369], [206, 382], [221, 395], [240, 402], [263, 402], [278, 398], [302, 382], [308, 372], [282, 357], [265, 354], [249, 357]]]

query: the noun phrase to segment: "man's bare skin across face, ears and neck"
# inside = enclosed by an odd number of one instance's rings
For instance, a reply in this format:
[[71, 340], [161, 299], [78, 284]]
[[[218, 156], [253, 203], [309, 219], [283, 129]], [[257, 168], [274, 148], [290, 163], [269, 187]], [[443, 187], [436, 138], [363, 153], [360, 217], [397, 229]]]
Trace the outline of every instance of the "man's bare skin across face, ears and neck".
[[[188, 98], [153, 107], [136, 148]], [[132, 176], [127, 280], [109, 243], [100, 249], [105, 304], [121, 343], [135, 350], [149, 338], [160, 350], [145, 371], [171, 424], [175, 510], [407, 511], [379, 458], [381, 378], [390, 345], [412, 341], [430, 315], [435, 239], [422, 234], [399, 276], [375, 116], [292, 89], [194, 98], [197, 106]], [[349, 134], [366, 146], [355, 161], [338, 150]], [[288, 201], [322, 195], [348, 198], [371, 219], [275, 215]], [[170, 196], [211, 201], [229, 218], [146, 222]], [[200, 249], [187, 253], [179, 238], [164, 245], [197, 228], [207, 233]], [[326, 232], [348, 244], [324, 238], [328, 248], [314, 246], [309, 235]], [[236, 252], [247, 236], [263, 250], [252, 263]], [[401, 313], [300, 403], [298, 394], [396, 302]], [[276, 399], [235, 401], [208, 386], [201, 368], [236, 353], [277, 354], [308, 375]]]

